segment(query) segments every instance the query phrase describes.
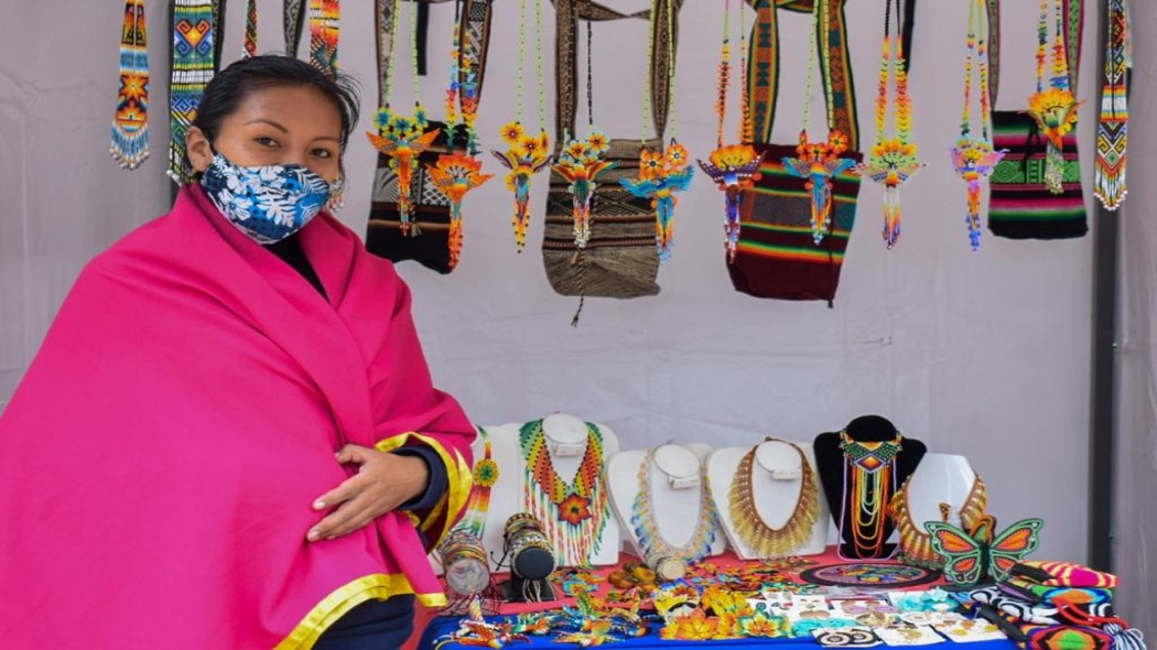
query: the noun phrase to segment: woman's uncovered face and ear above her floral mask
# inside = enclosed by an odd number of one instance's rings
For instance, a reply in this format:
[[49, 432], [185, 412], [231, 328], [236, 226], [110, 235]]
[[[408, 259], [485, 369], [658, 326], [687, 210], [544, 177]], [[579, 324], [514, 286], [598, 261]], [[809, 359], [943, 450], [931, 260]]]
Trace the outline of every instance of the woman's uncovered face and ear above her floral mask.
[[333, 101], [309, 86], [271, 86], [250, 93], [221, 120], [209, 146], [205, 133], [189, 130], [186, 147], [201, 172], [215, 149], [238, 167], [300, 164], [330, 183], [340, 172], [341, 113]]

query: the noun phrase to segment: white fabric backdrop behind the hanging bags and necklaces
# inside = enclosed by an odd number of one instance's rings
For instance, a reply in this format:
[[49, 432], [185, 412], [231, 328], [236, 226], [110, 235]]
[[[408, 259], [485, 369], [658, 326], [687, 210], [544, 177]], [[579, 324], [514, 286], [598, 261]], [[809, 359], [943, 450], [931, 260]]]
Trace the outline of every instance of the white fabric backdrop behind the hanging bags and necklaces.
[[[644, 8], [648, 0], [609, 0]], [[84, 261], [168, 206], [164, 7], [148, 2], [153, 157], [138, 171], [108, 157], [123, 2], [21, 2], [0, 22], [0, 400], [7, 399]], [[50, 8], [51, 5], [51, 8]], [[439, 276], [399, 268], [436, 382], [479, 422], [568, 411], [604, 422], [625, 449], [668, 438], [749, 444], [764, 435], [809, 441], [865, 413], [892, 419], [933, 451], [967, 455], [1005, 524], [1048, 522], [1040, 556], [1083, 560], [1088, 481], [1091, 239], [1012, 242], [985, 235], [968, 249], [965, 190], [948, 147], [958, 134], [965, 2], [922, 3], [914, 46], [915, 136], [929, 167], [904, 190], [905, 230], [886, 251], [878, 187], [865, 183], [835, 308], [735, 293], [723, 265], [722, 199], [702, 176], [678, 208], [676, 253], [657, 297], [576, 301], [550, 289], [540, 242], [545, 176], [526, 252], [509, 231], [501, 178], [471, 194], [462, 264]], [[282, 47], [280, 2], [263, 0], [260, 50]], [[362, 131], [376, 98], [369, 0], [344, 2], [339, 60], [363, 81]], [[1036, 2], [1004, 2], [1001, 99], [1019, 109], [1033, 90]], [[498, 0], [479, 125], [485, 145], [514, 113], [517, 3]], [[935, 10], [933, 10], [933, 7]], [[1092, 7], [1090, 7], [1091, 9]], [[864, 146], [883, 2], [849, 2]], [[244, 2], [228, 7], [228, 58], [241, 52]], [[432, 10], [433, 116], [449, 50], [450, 5]], [[553, 74], [553, 14], [544, 57]], [[752, 14], [749, 12], [749, 24]], [[795, 141], [802, 115], [808, 17], [781, 19], [784, 44], [776, 139]], [[722, 2], [688, 0], [679, 50], [679, 138], [693, 155], [714, 145], [714, 88]], [[1091, 175], [1095, 16], [1086, 29], [1081, 142]], [[596, 24], [596, 117], [612, 135], [638, 136], [643, 22]], [[1140, 40], [1140, 39], [1138, 39]], [[399, 60], [396, 103], [408, 71]], [[535, 82], [528, 80], [526, 118]], [[548, 81], [547, 97], [553, 97]], [[736, 96], [736, 99], [738, 97]], [[548, 102], [548, 104], [552, 102]], [[732, 112], [732, 117], [735, 113]], [[341, 217], [364, 229], [374, 154], [359, 134], [346, 156]], [[501, 173], [498, 164], [488, 171]], [[1138, 168], [1140, 169], [1140, 168]], [[1137, 179], [1137, 176], [1134, 176]], [[1137, 197], [1140, 199], [1140, 197]], [[1090, 195], [1091, 200], [1091, 195]], [[1091, 202], [1090, 202], [1091, 206]], [[0, 401], [2, 406], [2, 401]]]

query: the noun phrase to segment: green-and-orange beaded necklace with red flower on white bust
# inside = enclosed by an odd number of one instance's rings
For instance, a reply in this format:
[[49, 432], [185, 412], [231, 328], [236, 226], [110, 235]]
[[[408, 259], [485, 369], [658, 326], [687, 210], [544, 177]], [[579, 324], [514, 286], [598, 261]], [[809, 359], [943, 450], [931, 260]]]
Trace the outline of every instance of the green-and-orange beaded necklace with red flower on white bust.
[[526, 459], [526, 509], [545, 524], [562, 564], [589, 563], [598, 552], [609, 514], [603, 433], [587, 423], [587, 449], [570, 482], [554, 470], [541, 420], [524, 424], [518, 440]]

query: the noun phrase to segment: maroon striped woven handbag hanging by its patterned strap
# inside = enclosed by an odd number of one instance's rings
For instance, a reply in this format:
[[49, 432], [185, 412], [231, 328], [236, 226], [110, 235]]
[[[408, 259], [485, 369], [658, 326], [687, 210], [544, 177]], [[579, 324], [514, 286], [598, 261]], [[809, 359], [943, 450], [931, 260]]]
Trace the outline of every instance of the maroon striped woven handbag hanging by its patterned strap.
[[[817, 25], [820, 73], [830, 84], [828, 127], [843, 132], [848, 150], [841, 157], [857, 163], [863, 155], [855, 109], [855, 89], [848, 53], [845, 0], [828, 2], [827, 28]], [[757, 0], [749, 64], [749, 96], [754, 123], [756, 150], [764, 154], [761, 178], [744, 192], [739, 216], [739, 243], [735, 261], [728, 264], [736, 290], [761, 298], [826, 301], [835, 298], [843, 253], [856, 216], [860, 177], [847, 171], [833, 178], [831, 228], [817, 245], [810, 226], [811, 193], [804, 178], [789, 173], [782, 158], [797, 156], [795, 146], [773, 145], [779, 79], [779, 27], [776, 5], [795, 12], [810, 12], [808, 1]]]

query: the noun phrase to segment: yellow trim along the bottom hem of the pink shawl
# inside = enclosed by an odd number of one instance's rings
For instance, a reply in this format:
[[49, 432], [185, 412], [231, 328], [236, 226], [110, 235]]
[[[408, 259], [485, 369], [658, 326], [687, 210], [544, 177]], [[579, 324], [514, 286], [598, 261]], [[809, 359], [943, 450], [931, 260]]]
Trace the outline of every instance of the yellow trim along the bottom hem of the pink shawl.
[[[349, 610], [370, 599], [385, 600], [391, 596], [414, 593], [414, 588], [401, 574], [373, 574], [339, 586], [314, 606], [297, 627], [278, 643], [274, 650], [312, 648], [326, 629]], [[427, 607], [444, 607], [444, 593], [417, 593], [414, 597]]]

